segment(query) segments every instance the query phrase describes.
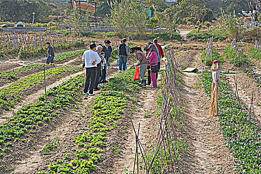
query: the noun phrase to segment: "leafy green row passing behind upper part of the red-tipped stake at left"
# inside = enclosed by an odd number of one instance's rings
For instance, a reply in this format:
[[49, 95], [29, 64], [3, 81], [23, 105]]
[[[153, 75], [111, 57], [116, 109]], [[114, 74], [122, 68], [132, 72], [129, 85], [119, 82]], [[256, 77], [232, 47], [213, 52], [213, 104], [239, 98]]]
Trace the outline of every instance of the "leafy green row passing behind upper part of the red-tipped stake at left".
[[[46, 79], [53, 77], [54, 75], [59, 75], [63, 72], [67, 71], [80, 71], [74, 70], [74, 67], [67, 66], [63, 68], [49, 69], [45, 71]], [[58, 76], [57, 79], [61, 79], [62, 77]], [[44, 81], [44, 72], [39, 72], [33, 75], [30, 75], [24, 78], [21, 81], [11, 84], [9, 87], [5, 87], [0, 90], [0, 107], [8, 110], [10, 107], [13, 107], [16, 101], [19, 100], [20, 95], [18, 93], [20, 91], [24, 91], [26, 89], [30, 89], [41, 82]]]

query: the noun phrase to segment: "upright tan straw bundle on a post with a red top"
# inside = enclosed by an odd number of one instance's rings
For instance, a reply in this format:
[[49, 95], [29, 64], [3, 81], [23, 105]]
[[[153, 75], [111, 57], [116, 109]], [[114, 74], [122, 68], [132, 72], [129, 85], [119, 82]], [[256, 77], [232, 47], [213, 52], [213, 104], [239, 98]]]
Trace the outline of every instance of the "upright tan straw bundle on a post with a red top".
[[214, 117], [215, 114], [218, 114], [218, 93], [219, 93], [219, 73], [218, 73], [218, 60], [210, 62], [212, 64], [212, 86], [211, 86], [211, 103], [209, 116], [207, 118]]

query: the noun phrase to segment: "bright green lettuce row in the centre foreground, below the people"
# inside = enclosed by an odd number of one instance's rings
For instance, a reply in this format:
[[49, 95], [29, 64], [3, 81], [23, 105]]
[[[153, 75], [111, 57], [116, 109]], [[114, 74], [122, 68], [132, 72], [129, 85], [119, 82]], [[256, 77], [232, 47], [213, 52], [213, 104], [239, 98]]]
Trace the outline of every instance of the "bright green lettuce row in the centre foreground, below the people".
[[88, 130], [74, 139], [78, 148], [72, 149], [72, 154], [64, 154], [63, 160], [50, 164], [50, 171], [39, 174], [89, 174], [96, 171], [95, 164], [103, 153], [105, 132], [116, 128], [127, 99], [129, 96], [123, 92], [101, 92], [92, 105], [90, 113], [93, 115], [88, 119]]

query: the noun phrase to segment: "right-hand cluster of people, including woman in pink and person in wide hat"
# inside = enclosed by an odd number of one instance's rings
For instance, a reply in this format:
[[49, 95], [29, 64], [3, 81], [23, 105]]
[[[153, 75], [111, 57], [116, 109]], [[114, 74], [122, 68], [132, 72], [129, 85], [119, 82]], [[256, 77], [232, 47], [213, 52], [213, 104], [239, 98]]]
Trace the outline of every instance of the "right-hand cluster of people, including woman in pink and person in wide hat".
[[[158, 73], [160, 72], [161, 59], [164, 58], [164, 52], [162, 46], [158, 44], [158, 40], [154, 39], [153, 43], [149, 42], [146, 44], [144, 51], [142, 52], [141, 47], [132, 47], [131, 53], [136, 53], [137, 65], [139, 66], [139, 76], [141, 78], [140, 86], [149, 85], [151, 88], [157, 87]], [[145, 73], [148, 69], [148, 81], [146, 83]]]

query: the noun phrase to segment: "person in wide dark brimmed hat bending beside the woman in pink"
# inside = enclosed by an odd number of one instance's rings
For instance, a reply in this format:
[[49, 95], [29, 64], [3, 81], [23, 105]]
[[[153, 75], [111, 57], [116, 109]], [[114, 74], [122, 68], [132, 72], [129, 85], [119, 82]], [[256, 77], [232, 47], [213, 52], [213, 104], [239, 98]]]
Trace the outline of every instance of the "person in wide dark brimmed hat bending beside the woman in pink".
[[141, 78], [140, 86], [146, 87], [145, 73], [146, 73], [149, 61], [147, 60], [145, 54], [141, 51], [141, 47], [132, 47], [131, 53], [136, 53], [136, 57], [138, 60], [136, 66], [140, 66], [139, 67], [140, 68], [139, 76]]

